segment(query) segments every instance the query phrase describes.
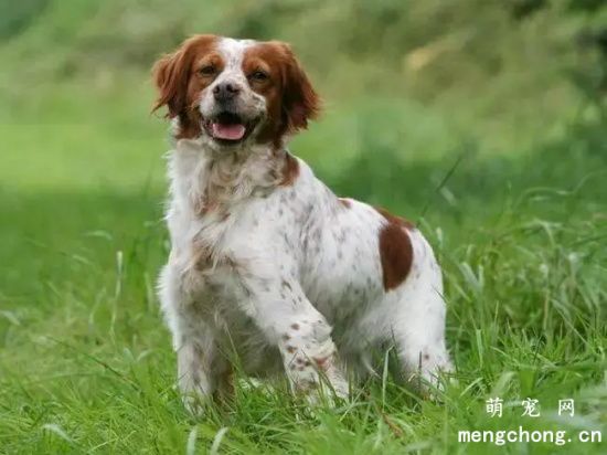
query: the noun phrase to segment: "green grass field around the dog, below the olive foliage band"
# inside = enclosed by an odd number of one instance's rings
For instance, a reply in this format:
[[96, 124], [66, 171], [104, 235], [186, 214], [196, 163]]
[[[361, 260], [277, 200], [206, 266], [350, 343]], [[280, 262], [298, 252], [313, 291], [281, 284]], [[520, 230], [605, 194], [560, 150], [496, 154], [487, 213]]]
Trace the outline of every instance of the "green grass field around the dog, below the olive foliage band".
[[[291, 149], [339, 194], [418, 222], [445, 269], [457, 383], [426, 401], [385, 374], [310, 410], [280, 379], [239, 378], [233, 402], [189, 415], [155, 293], [168, 146], [146, 70], [35, 84], [11, 71], [0, 86], [0, 453], [607, 453], [607, 125], [579, 98], [550, 134], [539, 118], [520, 140], [514, 124], [476, 124], [469, 105], [454, 116], [356, 83], [345, 96], [333, 87], [356, 73], [315, 74], [328, 106]], [[501, 417], [487, 413], [496, 396]], [[526, 398], [540, 417], [521, 416]], [[575, 416], [558, 415], [563, 399]], [[566, 431], [565, 445], [458, 442], [458, 431], [520, 425]], [[581, 431], [603, 442], [578, 442]]]

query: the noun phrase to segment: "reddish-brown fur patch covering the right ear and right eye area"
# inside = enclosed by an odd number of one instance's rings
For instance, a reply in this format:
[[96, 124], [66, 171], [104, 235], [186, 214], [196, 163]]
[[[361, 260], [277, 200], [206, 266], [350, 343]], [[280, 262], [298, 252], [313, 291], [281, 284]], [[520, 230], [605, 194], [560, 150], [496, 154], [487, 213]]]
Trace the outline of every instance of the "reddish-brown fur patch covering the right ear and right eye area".
[[243, 71], [246, 75], [256, 71], [268, 75], [251, 82], [267, 105], [268, 121], [258, 136], [259, 142], [271, 141], [281, 148], [285, 134], [306, 129], [308, 120], [318, 116], [320, 98], [288, 44], [268, 41], [247, 49]]

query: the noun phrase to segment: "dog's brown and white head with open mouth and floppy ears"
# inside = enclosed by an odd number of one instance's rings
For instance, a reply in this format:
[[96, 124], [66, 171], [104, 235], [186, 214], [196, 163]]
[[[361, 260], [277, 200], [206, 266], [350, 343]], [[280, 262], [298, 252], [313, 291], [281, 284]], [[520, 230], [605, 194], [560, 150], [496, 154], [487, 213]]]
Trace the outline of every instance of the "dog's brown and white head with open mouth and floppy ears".
[[281, 42], [195, 35], [153, 68], [159, 96], [179, 119], [178, 138], [215, 150], [244, 142], [279, 146], [306, 128], [320, 100], [290, 47]]

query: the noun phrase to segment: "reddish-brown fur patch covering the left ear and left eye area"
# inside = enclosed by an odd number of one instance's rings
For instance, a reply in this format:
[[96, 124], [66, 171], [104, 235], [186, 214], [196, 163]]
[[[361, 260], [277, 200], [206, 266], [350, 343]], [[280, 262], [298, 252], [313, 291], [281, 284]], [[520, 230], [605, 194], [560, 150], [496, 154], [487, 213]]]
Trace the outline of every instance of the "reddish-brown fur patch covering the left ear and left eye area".
[[153, 66], [158, 98], [152, 112], [166, 105], [169, 109], [167, 117], [179, 118], [178, 139], [191, 139], [201, 134], [200, 93], [213, 83], [214, 77], [201, 74], [200, 68], [206, 65], [223, 68], [224, 62], [215, 50], [216, 42], [217, 36], [212, 34], [194, 35]]

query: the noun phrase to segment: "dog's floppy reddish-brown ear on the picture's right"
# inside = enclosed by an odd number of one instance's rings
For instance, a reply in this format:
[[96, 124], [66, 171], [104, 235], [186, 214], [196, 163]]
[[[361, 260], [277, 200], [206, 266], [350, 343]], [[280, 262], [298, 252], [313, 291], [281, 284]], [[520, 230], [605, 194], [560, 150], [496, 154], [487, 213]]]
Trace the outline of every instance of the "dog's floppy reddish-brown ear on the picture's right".
[[321, 100], [301, 64], [286, 43], [279, 43], [284, 59], [283, 113], [288, 130], [297, 131], [308, 126], [320, 113]]

